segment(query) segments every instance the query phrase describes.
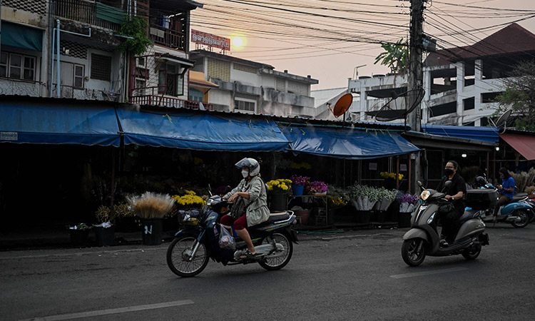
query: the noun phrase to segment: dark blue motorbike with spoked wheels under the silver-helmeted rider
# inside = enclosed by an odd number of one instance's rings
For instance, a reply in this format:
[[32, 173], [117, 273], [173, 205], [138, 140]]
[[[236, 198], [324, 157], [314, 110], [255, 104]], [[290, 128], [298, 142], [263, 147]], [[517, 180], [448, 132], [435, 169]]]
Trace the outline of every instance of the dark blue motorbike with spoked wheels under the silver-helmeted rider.
[[213, 195], [197, 218], [189, 213], [179, 215], [185, 228], [175, 234], [167, 250], [167, 264], [173, 273], [193, 277], [203, 272], [210, 259], [223, 265], [258, 263], [266, 270], [280, 270], [290, 262], [293, 243], [297, 244], [292, 211], [271, 214], [266, 222], [248, 228], [258, 255], [242, 258], [247, 247], [234, 230], [236, 250], [223, 249], [219, 243], [224, 227], [218, 222], [230, 211], [230, 206], [227, 200]]

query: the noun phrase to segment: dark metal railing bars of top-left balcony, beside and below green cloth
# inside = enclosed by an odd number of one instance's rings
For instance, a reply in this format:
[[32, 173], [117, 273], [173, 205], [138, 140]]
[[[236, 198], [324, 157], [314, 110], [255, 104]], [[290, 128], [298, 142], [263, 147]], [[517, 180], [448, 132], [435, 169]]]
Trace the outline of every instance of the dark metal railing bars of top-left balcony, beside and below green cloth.
[[96, 3], [81, 0], [51, 0], [52, 14], [62, 18], [118, 31], [121, 24], [97, 18]]

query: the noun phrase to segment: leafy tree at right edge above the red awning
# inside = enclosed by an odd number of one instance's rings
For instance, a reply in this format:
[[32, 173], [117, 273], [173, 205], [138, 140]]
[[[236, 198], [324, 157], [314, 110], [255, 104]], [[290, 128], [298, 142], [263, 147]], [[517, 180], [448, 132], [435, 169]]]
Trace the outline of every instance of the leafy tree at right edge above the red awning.
[[512, 108], [515, 128], [535, 131], [535, 60], [516, 65], [503, 82], [506, 89], [496, 96], [499, 108], [494, 116]]

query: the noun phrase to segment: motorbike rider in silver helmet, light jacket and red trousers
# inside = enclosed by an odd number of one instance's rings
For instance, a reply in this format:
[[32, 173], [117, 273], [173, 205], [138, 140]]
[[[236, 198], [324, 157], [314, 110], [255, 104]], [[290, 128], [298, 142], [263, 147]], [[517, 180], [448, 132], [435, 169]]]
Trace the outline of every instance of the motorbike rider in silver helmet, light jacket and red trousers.
[[[243, 213], [238, 213], [235, 217], [224, 215], [220, 223], [228, 227], [234, 225], [234, 230], [247, 245], [242, 258], [254, 258], [256, 249], [247, 227], [263, 223], [270, 218], [270, 210], [267, 208], [267, 189], [260, 178], [260, 164], [254, 158], [243, 158], [235, 166], [242, 170], [243, 180], [236, 188], [225, 194], [223, 200], [235, 201], [234, 206], [243, 210]], [[243, 207], [238, 205], [239, 198], [243, 200]]]

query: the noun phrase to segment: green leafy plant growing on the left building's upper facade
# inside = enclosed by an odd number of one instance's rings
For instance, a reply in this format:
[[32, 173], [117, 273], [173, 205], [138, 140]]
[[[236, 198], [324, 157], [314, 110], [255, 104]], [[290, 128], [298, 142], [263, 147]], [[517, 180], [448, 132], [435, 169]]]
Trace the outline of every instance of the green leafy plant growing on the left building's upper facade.
[[147, 51], [149, 46], [153, 46], [150, 39], [147, 38], [147, 21], [138, 16], [125, 16], [123, 24], [121, 24], [122, 36], [132, 37], [133, 39], [126, 39], [119, 45], [119, 49], [123, 53], [129, 52], [134, 56], [139, 56]]

